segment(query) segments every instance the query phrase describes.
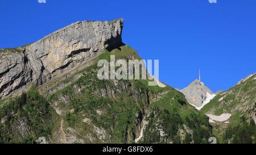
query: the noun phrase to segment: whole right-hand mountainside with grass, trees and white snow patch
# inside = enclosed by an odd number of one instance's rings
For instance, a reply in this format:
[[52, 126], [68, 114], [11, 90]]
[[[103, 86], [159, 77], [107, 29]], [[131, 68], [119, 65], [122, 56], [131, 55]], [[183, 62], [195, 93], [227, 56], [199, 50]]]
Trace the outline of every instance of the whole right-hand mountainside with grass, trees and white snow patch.
[[[210, 100], [200, 110], [210, 116], [211, 119], [209, 121], [213, 126], [214, 135], [222, 143], [255, 142], [255, 88], [256, 74], [254, 73], [241, 79], [237, 85], [234, 85], [229, 90], [218, 93], [214, 99]], [[246, 138], [243, 139], [243, 137]]]

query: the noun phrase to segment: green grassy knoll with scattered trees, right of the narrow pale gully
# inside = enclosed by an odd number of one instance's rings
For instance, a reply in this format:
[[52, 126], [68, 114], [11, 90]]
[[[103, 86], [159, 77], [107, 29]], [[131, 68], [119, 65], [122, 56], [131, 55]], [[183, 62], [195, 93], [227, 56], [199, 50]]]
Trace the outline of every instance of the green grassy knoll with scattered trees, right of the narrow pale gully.
[[[212, 135], [208, 117], [188, 104], [179, 91], [172, 89], [150, 108], [142, 143], [208, 143]], [[156, 128], [162, 128], [165, 135], [160, 137]]]

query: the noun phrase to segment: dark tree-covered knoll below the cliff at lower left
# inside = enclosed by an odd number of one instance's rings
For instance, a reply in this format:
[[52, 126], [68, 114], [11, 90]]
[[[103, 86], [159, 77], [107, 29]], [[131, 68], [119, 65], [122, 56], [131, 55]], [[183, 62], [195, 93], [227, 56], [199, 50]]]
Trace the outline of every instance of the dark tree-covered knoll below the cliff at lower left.
[[[1, 108], [0, 143], [32, 143], [51, 135], [58, 116], [34, 87], [20, 97], [9, 98]], [[21, 134], [22, 133], [22, 134]]]

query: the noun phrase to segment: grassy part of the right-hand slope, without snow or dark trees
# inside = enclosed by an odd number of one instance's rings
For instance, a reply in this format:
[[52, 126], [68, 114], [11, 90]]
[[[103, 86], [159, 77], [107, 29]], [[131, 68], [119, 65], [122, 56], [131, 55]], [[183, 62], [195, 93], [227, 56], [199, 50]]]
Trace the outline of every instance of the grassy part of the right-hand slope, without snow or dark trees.
[[[255, 94], [256, 94], [256, 80], [254, 76], [251, 76], [245, 82], [240, 83], [229, 89], [218, 94], [212, 99], [207, 105], [205, 105], [201, 112], [205, 114], [221, 115], [223, 113], [230, 113], [232, 116], [228, 120], [229, 128], [241, 126], [246, 118], [247, 121], [252, 119], [253, 111], [255, 107]], [[226, 125], [223, 123], [213, 124], [213, 133], [223, 143], [225, 140], [224, 131]]]

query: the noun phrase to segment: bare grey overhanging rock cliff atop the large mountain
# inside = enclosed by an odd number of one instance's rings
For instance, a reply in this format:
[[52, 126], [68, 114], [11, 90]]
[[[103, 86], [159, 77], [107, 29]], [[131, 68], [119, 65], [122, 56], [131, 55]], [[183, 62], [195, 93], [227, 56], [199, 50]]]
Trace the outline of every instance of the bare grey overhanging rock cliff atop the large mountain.
[[0, 52], [0, 99], [25, 85], [39, 86], [60, 73], [122, 44], [123, 19], [76, 22], [20, 47]]

